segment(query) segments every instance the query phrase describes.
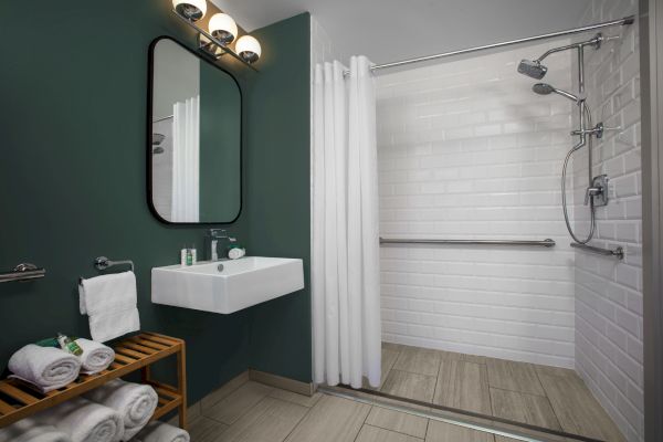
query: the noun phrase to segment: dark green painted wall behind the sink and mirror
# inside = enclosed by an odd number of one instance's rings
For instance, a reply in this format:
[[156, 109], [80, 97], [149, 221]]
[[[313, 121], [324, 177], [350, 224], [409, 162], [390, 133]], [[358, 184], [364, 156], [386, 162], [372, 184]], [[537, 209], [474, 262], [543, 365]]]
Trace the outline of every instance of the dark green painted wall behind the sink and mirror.
[[[308, 381], [308, 290], [228, 316], [150, 303], [152, 266], [178, 262], [185, 243], [204, 253], [206, 228], [159, 223], [146, 202], [148, 46], [162, 34], [194, 43], [170, 6], [35, 1], [17, 20], [15, 3], [0, 2], [0, 269], [48, 270], [0, 284], [0, 361], [59, 330], [87, 336], [76, 280], [107, 255], [136, 263], [143, 328], [187, 340], [190, 400], [251, 366]], [[229, 230], [251, 254], [308, 267], [308, 15], [259, 36], [261, 72], [231, 67], [246, 144], [244, 211]]]

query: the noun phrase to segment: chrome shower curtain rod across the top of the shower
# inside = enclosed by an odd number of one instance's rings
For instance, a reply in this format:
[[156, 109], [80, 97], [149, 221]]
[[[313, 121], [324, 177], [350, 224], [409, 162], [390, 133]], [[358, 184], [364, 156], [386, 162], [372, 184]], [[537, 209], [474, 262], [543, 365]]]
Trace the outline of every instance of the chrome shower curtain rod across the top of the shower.
[[[633, 24], [634, 21], [635, 21], [635, 15], [628, 15], [628, 17], [624, 17], [623, 19], [604, 21], [602, 23], [589, 24], [587, 27], [581, 27], [581, 28], [573, 28], [573, 29], [569, 29], [567, 31], [550, 32], [550, 33], [541, 34], [541, 35], [527, 36], [527, 38], [518, 39], [518, 40], [511, 40], [511, 41], [505, 41], [505, 42], [499, 42], [499, 43], [485, 44], [483, 46], [476, 46], [476, 48], [461, 49], [457, 51], [443, 52], [441, 54], [420, 56], [420, 57], [410, 59], [410, 60], [401, 60], [398, 62], [373, 64], [370, 67], [370, 70], [371, 70], [371, 72], [375, 72], [378, 70], [383, 70], [383, 69], [389, 69], [389, 67], [404, 66], [407, 64], [428, 62], [431, 60], [470, 54], [472, 52], [485, 51], [485, 50], [490, 50], [490, 49], [511, 46], [512, 44], [528, 43], [528, 42], [538, 41], [538, 40], [554, 39], [557, 36], [572, 35], [572, 34], [579, 34], [579, 33], [589, 32], [589, 31], [596, 31], [598, 29], [603, 29], [603, 28]], [[344, 71], [343, 74], [345, 76], [345, 75], [348, 75], [349, 73], [350, 73], [350, 71]]]

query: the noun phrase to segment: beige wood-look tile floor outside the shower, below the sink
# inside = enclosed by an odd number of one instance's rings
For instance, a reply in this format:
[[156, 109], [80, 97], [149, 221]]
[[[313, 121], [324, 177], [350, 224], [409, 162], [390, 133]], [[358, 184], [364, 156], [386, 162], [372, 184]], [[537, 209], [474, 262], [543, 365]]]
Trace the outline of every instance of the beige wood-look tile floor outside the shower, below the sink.
[[476, 430], [322, 393], [309, 398], [253, 381], [222, 399], [206, 400], [189, 432], [192, 442], [496, 441]]

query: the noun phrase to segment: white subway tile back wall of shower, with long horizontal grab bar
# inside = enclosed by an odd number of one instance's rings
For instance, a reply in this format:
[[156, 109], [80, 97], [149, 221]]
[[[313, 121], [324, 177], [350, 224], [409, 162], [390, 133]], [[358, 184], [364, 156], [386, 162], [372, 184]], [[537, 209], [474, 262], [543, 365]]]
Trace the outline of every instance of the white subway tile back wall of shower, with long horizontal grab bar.
[[[380, 232], [551, 238], [554, 249], [382, 246], [383, 340], [573, 367], [573, 251], [560, 206], [571, 104], [520, 59], [554, 43], [380, 74]], [[569, 53], [546, 77], [571, 86]]]

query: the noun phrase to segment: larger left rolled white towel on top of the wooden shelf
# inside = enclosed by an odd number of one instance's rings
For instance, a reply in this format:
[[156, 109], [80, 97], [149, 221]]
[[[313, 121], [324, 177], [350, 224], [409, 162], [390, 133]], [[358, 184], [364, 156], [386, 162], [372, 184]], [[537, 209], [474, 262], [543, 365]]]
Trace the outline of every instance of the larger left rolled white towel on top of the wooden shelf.
[[81, 361], [60, 348], [29, 344], [11, 356], [7, 367], [13, 373], [11, 377], [49, 392], [76, 380]]

